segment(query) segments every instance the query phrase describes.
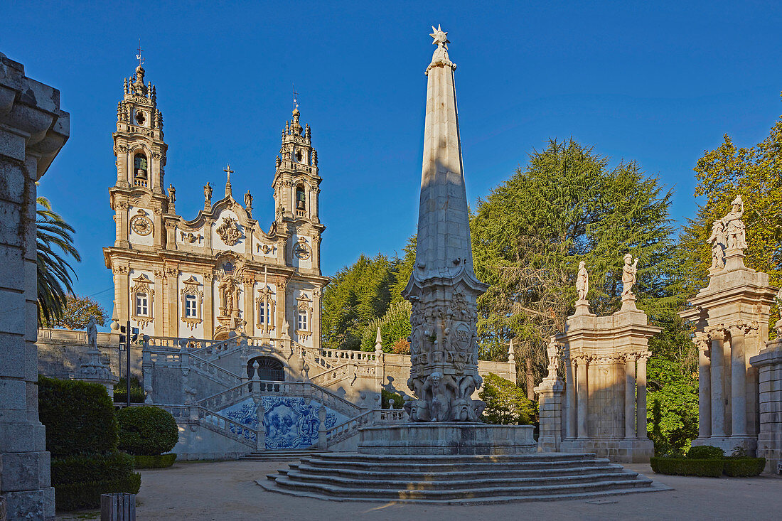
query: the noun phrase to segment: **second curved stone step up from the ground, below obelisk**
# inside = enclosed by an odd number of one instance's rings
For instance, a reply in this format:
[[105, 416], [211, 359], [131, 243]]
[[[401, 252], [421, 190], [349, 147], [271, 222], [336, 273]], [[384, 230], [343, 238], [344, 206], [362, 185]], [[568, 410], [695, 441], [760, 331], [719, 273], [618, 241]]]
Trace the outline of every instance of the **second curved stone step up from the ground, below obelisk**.
[[497, 478], [482, 474], [469, 480], [449, 479], [443, 474], [430, 474], [418, 476], [415, 480], [393, 480], [386, 476], [374, 476], [374, 479], [346, 478], [342, 476], [313, 476], [306, 472], [289, 471], [286, 477], [298, 483], [319, 483], [345, 488], [373, 488], [384, 490], [475, 490], [489, 488], [513, 488], [543, 487], [547, 485], [572, 484], [572, 483], [599, 483], [606, 480], [635, 480], [637, 472], [595, 472], [590, 474], [576, 474], [570, 476], [532, 476], [532, 477], [508, 477]]

